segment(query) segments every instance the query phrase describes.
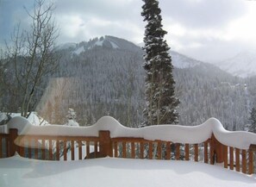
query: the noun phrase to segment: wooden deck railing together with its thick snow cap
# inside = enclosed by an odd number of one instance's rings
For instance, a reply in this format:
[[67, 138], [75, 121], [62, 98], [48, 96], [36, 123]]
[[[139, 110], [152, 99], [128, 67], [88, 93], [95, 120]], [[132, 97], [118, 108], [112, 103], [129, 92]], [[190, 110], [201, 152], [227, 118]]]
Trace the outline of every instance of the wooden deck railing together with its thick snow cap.
[[[122, 157], [184, 159], [255, 173], [256, 134], [230, 132], [210, 118], [195, 127], [159, 125], [126, 128], [104, 116], [91, 127], [33, 126], [15, 117], [0, 134], [0, 158], [13, 156], [49, 160]], [[0, 131], [1, 132], [1, 131]]]

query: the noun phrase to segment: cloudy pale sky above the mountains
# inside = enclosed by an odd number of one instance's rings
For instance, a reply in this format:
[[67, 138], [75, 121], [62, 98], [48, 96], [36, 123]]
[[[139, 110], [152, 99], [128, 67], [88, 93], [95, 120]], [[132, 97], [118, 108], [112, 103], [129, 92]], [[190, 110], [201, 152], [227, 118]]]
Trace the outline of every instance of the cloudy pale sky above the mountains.
[[[48, 0], [47, 0], [48, 1]], [[145, 22], [141, 0], [53, 0], [59, 43], [114, 35], [139, 44]], [[28, 27], [23, 9], [33, 0], [0, 0], [0, 43], [17, 22]], [[165, 36], [172, 50], [212, 62], [256, 51], [256, 0], [159, 0]]]

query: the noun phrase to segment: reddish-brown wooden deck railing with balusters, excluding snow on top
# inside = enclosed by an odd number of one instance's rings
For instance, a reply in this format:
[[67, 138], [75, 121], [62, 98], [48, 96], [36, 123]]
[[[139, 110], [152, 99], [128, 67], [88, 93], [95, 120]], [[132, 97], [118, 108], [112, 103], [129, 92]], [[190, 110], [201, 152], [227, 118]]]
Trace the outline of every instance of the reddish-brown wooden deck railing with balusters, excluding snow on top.
[[[76, 151], [77, 150], [77, 151]], [[256, 145], [242, 149], [222, 145], [214, 134], [199, 144], [165, 140], [146, 140], [139, 137], [113, 137], [110, 131], [99, 130], [97, 136], [61, 136], [20, 134], [10, 128], [9, 134], [0, 134], [0, 158], [19, 153], [22, 157], [47, 160], [92, 159], [115, 157], [129, 159], [176, 159], [201, 161], [224, 168], [255, 173]], [[85, 155], [83, 154], [85, 153]]]

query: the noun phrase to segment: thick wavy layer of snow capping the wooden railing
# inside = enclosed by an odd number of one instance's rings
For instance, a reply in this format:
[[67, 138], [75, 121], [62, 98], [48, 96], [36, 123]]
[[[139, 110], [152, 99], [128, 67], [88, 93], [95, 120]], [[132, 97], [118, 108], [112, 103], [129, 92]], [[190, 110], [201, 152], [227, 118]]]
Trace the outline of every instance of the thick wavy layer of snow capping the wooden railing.
[[98, 136], [99, 131], [109, 131], [111, 138], [134, 137], [184, 144], [202, 143], [209, 140], [211, 135], [214, 134], [215, 138], [226, 146], [249, 149], [250, 145], [256, 145], [256, 134], [227, 131], [222, 127], [222, 123], [215, 118], [210, 118], [203, 124], [193, 127], [159, 125], [145, 128], [127, 128], [110, 116], [103, 116], [90, 127], [33, 126], [25, 118], [14, 117], [9, 121], [8, 128], [17, 128], [18, 134], [21, 135]]

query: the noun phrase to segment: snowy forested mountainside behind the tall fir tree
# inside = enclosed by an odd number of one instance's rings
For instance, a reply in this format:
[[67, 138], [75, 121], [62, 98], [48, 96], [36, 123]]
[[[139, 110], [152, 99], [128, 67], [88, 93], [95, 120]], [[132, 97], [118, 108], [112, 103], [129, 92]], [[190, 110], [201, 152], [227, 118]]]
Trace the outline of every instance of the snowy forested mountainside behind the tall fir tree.
[[[145, 105], [140, 47], [105, 36], [58, 50], [58, 71], [37, 107], [41, 115], [52, 123], [63, 123], [72, 108], [80, 125], [111, 115], [126, 126], [140, 126]], [[171, 55], [181, 101], [180, 124], [197, 125], [216, 117], [225, 128], [244, 129], [253, 107], [255, 78], [235, 78], [214, 65], [175, 52]]]

